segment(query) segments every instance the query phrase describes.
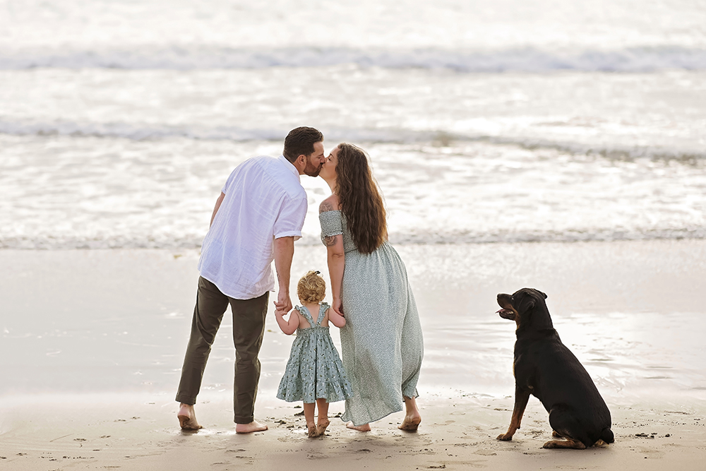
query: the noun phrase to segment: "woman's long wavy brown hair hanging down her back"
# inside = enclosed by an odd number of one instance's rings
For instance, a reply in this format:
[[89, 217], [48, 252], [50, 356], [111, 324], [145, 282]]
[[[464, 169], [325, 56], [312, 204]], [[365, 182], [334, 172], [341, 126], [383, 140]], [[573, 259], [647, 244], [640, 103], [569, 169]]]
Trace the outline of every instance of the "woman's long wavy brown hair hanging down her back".
[[335, 192], [341, 213], [358, 251], [371, 254], [388, 238], [383, 197], [364, 150], [347, 143], [338, 149]]

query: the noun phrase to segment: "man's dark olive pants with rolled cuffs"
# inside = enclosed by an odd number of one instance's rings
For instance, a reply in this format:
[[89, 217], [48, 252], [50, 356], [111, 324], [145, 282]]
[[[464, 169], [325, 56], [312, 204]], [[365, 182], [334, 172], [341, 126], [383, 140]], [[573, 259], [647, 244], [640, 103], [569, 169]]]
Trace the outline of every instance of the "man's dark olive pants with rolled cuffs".
[[216, 285], [198, 278], [196, 306], [193, 308], [191, 337], [186, 347], [184, 366], [177, 401], [196, 403], [201, 389], [203, 370], [211, 352], [228, 304], [233, 313], [233, 343], [235, 345], [235, 379], [233, 384], [234, 420], [237, 424], [249, 424], [254, 420], [255, 398], [260, 381], [258, 354], [265, 333], [265, 316], [270, 297], [265, 292], [253, 299], [233, 299], [220, 292]]

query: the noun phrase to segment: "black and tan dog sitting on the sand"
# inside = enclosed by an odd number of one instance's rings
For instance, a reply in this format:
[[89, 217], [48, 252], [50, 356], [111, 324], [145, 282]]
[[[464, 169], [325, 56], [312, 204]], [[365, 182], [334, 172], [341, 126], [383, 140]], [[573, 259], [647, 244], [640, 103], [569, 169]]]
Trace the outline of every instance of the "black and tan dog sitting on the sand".
[[498, 440], [513, 439], [532, 394], [549, 412], [553, 435], [565, 439], [548, 441], [544, 448], [613, 443], [611, 412], [586, 369], [561, 343], [544, 299], [546, 294], [532, 288], [498, 294], [503, 308], [498, 314], [517, 323], [515, 410], [508, 432]]

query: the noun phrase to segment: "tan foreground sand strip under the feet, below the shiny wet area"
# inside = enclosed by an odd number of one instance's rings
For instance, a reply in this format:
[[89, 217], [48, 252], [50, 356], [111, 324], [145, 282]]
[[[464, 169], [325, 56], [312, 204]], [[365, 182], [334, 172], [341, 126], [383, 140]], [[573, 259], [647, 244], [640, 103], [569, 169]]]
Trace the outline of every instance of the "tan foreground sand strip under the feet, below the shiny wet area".
[[[149, 399], [149, 398], [148, 398]], [[706, 458], [706, 408], [701, 404], [664, 407], [611, 407], [616, 442], [606, 448], [545, 450], [551, 439], [546, 412], [530, 400], [522, 429], [513, 441], [495, 437], [508, 426], [509, 398], [447, 398], [427, 395], [419, 431], [396, 429], [397, 413], [364, 434], [346, 429], [333, 416], [325, 436], [306, 437], [301, 408], [259, 400], [257, 415], [270, 429], [237, 435], [229, 423], [229, 400], [198, 403], [205, 429], [184, 433], [177, 427], [169, 398], [78, 396], [62, 403], [4, 407], [0, 466], [11, 470], [209, 469], [270, 470], [465, 470], [702, 469]], [[54, 398], [56, 400], [56, 398]]]

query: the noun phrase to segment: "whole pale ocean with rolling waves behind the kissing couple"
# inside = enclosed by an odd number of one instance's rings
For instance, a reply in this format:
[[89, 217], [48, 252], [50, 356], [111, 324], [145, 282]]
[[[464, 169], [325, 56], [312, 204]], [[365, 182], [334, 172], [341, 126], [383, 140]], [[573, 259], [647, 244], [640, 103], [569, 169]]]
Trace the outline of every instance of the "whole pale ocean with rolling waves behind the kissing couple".
[[[702, 1], [0, 1], [0, 248], [198, 248], [289, 129], [397, 244], [706, 237]], [[302, 177], [316, 244], [323, 181]]]

